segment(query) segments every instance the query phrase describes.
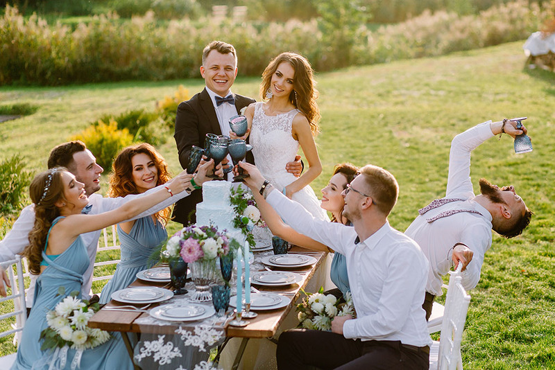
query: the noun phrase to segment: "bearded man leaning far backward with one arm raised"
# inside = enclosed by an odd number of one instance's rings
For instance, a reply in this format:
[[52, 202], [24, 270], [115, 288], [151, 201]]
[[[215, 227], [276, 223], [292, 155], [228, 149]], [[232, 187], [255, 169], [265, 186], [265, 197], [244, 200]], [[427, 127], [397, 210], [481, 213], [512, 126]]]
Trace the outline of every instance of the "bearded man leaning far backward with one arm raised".
[[426, 318], [432, 313], [436, 296], [443, 294], [442, 276], [451, 267], [463, 263], [462, 283], [466, 290], [475, 288], [480, 280], [484, 254], [491, 246], [491, 230], [505, 238], [522, 233], [533, 214], [515, 192], [513, 186], [490, 184], [480, 179], [479, 195], [470, 180], [470, 152], [481, 143], [506, 132], [515, 137], [526, 133], [522, 126], [509, 120], [487, 121], [454, 137], [449, 157], [449, 177], [445, 198], [434, 200], [420, 209], [407, 236], [420, 245], [429, 261], [424, 305]]

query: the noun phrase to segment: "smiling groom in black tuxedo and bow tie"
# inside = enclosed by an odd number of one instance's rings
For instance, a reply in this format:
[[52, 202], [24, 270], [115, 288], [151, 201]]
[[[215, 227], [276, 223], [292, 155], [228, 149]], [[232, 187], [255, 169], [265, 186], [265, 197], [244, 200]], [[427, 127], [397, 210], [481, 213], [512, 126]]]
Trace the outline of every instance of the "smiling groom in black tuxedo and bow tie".
[[[229, 119], [241, 112], [255, 100], [231, 92], [237, 76], [237, 53], [231, 44], [213, 41], [203, 50], [203, 65], [200, 74], [206, 87], [191, 99], [180, 103], [176, 116], [176, 132], [173, 137], [178, 147], [179, 162], [182, 168], [189, 164], [191, 146], [204, 147], [206, 134], [230, 134]], [[230, 159], [228, 155], [228, 159]], [[246, 161], [254, 164], [252, 152], [247, 152]], [[225, 159], [223, 164], [225, 164]], [[289, 172], [300, 175], [300, 161], [287, 164]], [[232, 177], [232, 173], [229, 175]], [[176, 203], [173, 220], [182, 224], [195, 222], [193, 211], [202, 202], [202, 190], [196, 190]]]

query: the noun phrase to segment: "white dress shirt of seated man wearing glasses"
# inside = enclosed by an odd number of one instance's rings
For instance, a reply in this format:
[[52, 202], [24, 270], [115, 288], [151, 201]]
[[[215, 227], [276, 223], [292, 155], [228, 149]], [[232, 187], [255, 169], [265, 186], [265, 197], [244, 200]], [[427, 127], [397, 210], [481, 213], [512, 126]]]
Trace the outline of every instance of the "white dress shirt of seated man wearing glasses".
[[357, 319], [345, 321], [345, 338], [399, 340], [429, 346], [422, 309], [428, 262], [420, 247], [386, 222], [359, 243], [354, 227], [314, 219], [279, 191], [268, 203], [293, 229], [345, 256]]

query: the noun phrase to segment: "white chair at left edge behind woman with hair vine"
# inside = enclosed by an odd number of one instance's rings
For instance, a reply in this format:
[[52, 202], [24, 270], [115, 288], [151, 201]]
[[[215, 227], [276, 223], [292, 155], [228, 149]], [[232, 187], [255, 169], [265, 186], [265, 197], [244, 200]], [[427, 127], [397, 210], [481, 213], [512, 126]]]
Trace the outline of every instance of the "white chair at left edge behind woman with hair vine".
[[[0, 337], [6, 337], [7, 335], [13, 334], [14, 344], [17, 344], [21, 341], [23, 327], [25, 326], [25, 321], [27, 319], [27, 308], [25, 304], [25, 281], [22, 258], [21, 256], [16, 255], [15, 259], [6, 261], [4, 263], [1, 263], [0, 265], [8, 273], [8, 279], [10, 280], [10, 285], [12, 285], [12, 288], [8, 289], [8, 297], [1, 297], [0, 303], [12, 301], [13, 304], [13, 310], [0, 315], [0, 321], [8, 320], [10, 319], [10, 317], [15, 317], [15, 324], [10, 324], [11, 329], [1, 332]], [[15, 265], [15, 275], [13, 273], [13, 265]], [[3, 281], [0, 281], [0, 283], [3, 283]], [[1, 357], [0, 368], [8, 369], [12, 362], [15, 361], [15, 355], [15, 353], [12, 353], [11, 355]]]

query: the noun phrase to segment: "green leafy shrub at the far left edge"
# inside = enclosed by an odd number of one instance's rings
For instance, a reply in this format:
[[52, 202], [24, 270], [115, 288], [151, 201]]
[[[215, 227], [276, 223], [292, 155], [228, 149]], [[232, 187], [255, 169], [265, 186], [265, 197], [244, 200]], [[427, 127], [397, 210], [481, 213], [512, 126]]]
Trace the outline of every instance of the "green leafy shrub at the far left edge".
[[10, 215], [20, 211], [28, 199], [28, 186], [33, 173], [25, 170], [20, 155], [13, 155], [0, 162], [0, 214]]

